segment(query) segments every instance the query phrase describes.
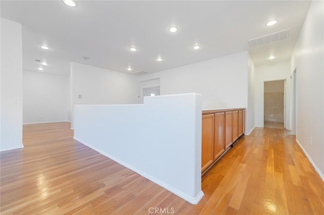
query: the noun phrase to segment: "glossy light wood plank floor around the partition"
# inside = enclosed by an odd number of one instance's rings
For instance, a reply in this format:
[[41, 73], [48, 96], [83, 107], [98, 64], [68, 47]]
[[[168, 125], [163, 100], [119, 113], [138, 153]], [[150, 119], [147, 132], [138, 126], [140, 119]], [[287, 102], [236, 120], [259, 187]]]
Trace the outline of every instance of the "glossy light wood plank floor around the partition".
[[192, 205], [74, 141], [69, 126], [24, 125], [25, 148], [1, 152], [1, 214], [324, 213], [324, 183], [287, 130], [242, 138]]

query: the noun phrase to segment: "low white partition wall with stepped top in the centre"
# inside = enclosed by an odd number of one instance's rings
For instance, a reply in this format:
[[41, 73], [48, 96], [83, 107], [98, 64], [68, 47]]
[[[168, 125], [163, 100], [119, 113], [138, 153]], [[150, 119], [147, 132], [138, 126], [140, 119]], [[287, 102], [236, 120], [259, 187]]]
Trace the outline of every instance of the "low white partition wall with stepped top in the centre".
[[192, 204], [201, 191], [201, 95], [75, 105], [74, 139]]

